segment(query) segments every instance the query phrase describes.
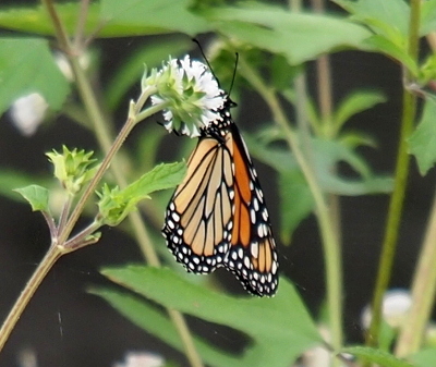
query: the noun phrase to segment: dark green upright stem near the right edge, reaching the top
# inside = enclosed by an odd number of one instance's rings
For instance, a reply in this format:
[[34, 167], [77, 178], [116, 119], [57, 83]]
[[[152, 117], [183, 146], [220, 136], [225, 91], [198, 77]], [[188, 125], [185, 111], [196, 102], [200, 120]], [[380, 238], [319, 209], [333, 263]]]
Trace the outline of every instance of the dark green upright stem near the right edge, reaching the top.
[[[410, 29], [409, 29], [409, 56], [412, 60], [417, 59], [419, 51], [419, 25], [421, 0], [410, 2]], [[410, 156], [408, 152], [407, 138], [413, 131], [413, 122], [416, 113], [416, 97], [407, 88], [412, 76], [404, 69], [404, 85], [402, 97], [402, 117], [400, 142], [397, 154], [396, 175], [393, 193], [390, 197], [388, 218], [386, 223], [385, 236], [382, 245], [382, 255], [378, 264], [378, 274], [375, 285], [374, 298], [372, 303], [373, 317], [370, 330], [366, 334], [366, 345], [375, 346], [378, 343], [378, 334], [382, 322], [383, 297], [389, 285], [393, 258], [398, 242], [398, 231], [400, 228], [402, 208], [405, 196], [405, 187], [409, 175]]]

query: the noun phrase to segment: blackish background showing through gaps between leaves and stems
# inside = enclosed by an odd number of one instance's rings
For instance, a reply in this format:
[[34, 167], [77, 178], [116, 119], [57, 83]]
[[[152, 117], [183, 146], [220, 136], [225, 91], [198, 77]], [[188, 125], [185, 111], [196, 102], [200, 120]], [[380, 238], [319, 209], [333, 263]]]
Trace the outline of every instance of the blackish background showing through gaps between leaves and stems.
[[[147, 38], [98, 40], [101, 50], [101, 78], [110, 77], [122, 58]], [[348, 51], [331, 57], [334, 99], [337, 102], [356, 88], [375, 88], [388, 97], [353, 118], [350, 127], [370, 132], [378, 148], [362, 148], [377, 173], [391, 173], [395, 167], [401, 111], [400, 68], [379, 54]], [[314, 66], [308, 68], [310, 87], [315, 93]], [[104, 83], [104, 82], [102, 82]], [[137, 90], [125, 96], [126, 102]], [[249, 130], [252, 124], [268, 121], [265, 105], [253, 95], [243, 95], [239, 102], [238, 124]], [[119, 124], [125, 111], [119, 112]], [[173, 137], [175, 138], [175, 137]], [[168, 148], [171, 138], [166, 138]], [[96, 147], [92, 135], [71, 121], [59, 118], [41, 126], [32, 137], [22, 136], [5, 114], [0, 121], [0, 167], [14, 168], [35, 174], [47, 174], [50, 167], [45, 152], [61, 144], [81, 148]], [[166, 147], [162, 148], [165, 150]], [[272, 225], [278, 228], [278, 196], [274, 172], [256, 162], [257, 171], [271, 212]], [[268, 180], [269, 179], [269, 180]], [[392, 288], [408, 288], [414, 270], [426, 218], [434, 193], [434, 171], [421, 178], [412, 160], [404, 216], [393, 268]], [[388, 196], [342, 197], [343, 261], [344, 261], [344, 327], [348, 340], [362, 338], [360, 313], [371, 299], [378, 262], [379, 247], [388, 206]], [[164, 218], [164, 213], [162, 213]], [[278, 231], [276, 231], [278, 232]], [[43, 217], [27, 205], [0, 197], [0, 317], [3, 319], [44, 256], [49, 244]], [[165, 246], [164, 238], [158, 246]], [[314, 218], [296, 230], [290, 247], [279, 243], [281, 272], [298, 286], [310, 309], [317, 314], [324, 297], [324, 265], [322, 245]], [[184, 357], [137, 327], [123, 319], [104, 301], [85, 292], [90, 284], [105, 283], [99, 276], [101, 266], [141, 261], [136, 245], [116, 229], [107, 229], [99, 244], [65, 256], [55, 266], [19, 321], [3, 353], [0, 366], [19, 366], [17, 355], [32, 348], [38, 366], [110, 366], [121, 360], [126, 351], [157, 352], [185, 364]], [[218, 271], [218, 277], [234, 293], [241, 293], [231, 274]], [[241, 350], [243, 340], [226, 328], [192, 320], [205, 338], [233, 351]]]

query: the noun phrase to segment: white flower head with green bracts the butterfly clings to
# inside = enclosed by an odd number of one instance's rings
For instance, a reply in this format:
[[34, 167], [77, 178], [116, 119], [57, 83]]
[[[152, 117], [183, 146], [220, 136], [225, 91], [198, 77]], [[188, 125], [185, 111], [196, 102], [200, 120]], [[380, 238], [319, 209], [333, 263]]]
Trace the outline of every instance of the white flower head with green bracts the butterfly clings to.
[[169, 132], [195, 137], [199, 136], [201, 129], [221, 119], [227, 94], [208, 68], [189, 56], [182, 60], [170, 59], [160, 71], [153, 70], [149, 76], [145, 75], [143, 89], [149, 86], [157, 88], [152, 103], [166, 105], [164, 125]]

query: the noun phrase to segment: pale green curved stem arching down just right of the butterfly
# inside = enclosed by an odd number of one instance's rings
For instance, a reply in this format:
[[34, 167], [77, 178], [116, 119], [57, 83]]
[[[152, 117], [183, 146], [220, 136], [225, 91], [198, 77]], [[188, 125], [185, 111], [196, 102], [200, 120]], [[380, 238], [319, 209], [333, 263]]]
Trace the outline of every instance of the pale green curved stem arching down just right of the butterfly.
[[312, 166], [304, 157], [298, 137], [290, 123], [286, 118], [275, 91], [267, 86], [255, 70], [240, 57], [241, 73], [253, 85], [261, 96], [269, 106], [275, 121], [282, 129], [288, 145], [292, 150], [303, 174], [307, 181], [308, 187], [315, 201], [315, 213], [318, 221], [320, 236], [323, 240], [323, 248], [326, 265], [326, 282], [327, 282], [327, 304], [330, 317], [330, 330], [332, 335], [331, 344], [336, 351], [342, 346], [342, 277], [340, 249], [336, 238], [334, 225], [329, 219], [329, 208], [324, 198], [323, 192], [316, 180]]

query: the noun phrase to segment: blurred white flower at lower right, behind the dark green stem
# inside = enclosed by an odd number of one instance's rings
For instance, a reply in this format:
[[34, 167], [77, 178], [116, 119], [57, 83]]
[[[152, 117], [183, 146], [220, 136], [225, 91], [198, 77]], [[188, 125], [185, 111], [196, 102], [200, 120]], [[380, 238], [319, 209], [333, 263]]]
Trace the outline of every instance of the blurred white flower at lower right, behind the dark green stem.
[[[412, 297], [408, 291], [391, 290], [383, 297], [383, 318], [392, 328], [400, 327], [404, 322], [407, 314], [412, 306]], [[370, 328], [372, 319], [371, 306], [367, 305], [362, 313], [362, 326]]]

